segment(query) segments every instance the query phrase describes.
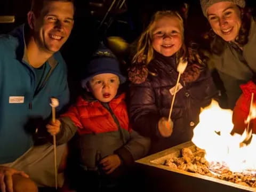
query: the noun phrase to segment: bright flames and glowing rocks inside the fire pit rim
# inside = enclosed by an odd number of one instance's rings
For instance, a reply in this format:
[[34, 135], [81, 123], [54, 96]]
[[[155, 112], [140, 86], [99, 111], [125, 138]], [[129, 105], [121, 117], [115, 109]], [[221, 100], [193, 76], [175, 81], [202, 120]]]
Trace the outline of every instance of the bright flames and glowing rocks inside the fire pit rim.
[[[251, 111], [255, 111], [252, 107]], [[250, 113], [246, 123], [255, 118]], [[199, 173], [218, 179], [256, 187], [255, 135], [245, 145], [246, 129], [242, 135], [230, 132], [233, 129], [232, 111], [221, 109], [216, 101], [200, 114], [200, 123], [194, 129], [192, 142], [196, 151], [181, 150], [182, 156], [166, 159], [165, 165], [174, 169]], [[247, 144], [247, 143], [246, 143]]]

